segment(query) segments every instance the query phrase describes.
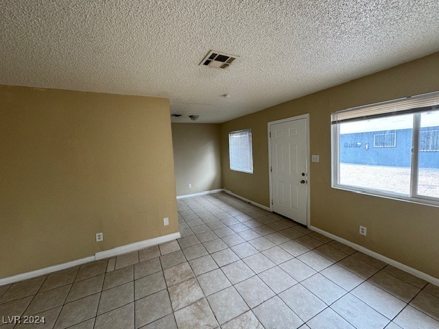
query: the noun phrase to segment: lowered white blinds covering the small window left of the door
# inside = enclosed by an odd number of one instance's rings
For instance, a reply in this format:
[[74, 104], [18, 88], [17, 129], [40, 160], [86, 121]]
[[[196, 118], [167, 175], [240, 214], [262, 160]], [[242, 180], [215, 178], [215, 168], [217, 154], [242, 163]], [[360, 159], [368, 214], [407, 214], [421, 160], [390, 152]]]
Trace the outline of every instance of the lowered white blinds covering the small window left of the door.
[[230, 169], [253, 172], [252, 132], [250, 129], [228, 134]]

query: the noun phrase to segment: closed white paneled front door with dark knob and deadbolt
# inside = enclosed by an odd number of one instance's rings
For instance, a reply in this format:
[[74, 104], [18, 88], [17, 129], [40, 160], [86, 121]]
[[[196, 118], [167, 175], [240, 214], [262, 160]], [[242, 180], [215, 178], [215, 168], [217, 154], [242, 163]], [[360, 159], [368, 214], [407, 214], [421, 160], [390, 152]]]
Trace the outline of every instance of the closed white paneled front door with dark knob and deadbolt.
[[307, 119], [269, 126], [273, 211], [307, 225]]

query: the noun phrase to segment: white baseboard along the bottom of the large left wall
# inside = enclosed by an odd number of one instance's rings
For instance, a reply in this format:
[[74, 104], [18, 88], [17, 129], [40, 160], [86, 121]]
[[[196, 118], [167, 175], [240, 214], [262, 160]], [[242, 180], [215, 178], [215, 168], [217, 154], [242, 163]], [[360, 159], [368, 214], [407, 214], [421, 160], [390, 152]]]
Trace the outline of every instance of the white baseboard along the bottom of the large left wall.
[[134, 252], [139, 249], [151, 247], [152, 245], [158, 245], [167, 241], [180, 239], [180, 237], [180, 232], [158, 236], [158, 238], [147, 239], [145, 241], [131, 243], [130, 245], [123, 245], [114, 249], [105, 250], [104, 252], [97, 252], [95, 256], [88, 256], [86, 258], [72, 260], [71, 262], [45, 267], [44, 269], [37, 269], [35, 271], [17, 274], [16, 276], [9, 276], [8, 278], [0, 278], [0, 286], [3, 286], [4, 284], [18, 282], [21, 280], [36, 278], [38, 276], [44, 276], [45, 274], [60, 271], [62, 269], [68, 269], [69, 267], [75, 267], [84, 263], [93, 262], [93, 260], [109, 258], [120, 254], [126, 254], [127, 252]]

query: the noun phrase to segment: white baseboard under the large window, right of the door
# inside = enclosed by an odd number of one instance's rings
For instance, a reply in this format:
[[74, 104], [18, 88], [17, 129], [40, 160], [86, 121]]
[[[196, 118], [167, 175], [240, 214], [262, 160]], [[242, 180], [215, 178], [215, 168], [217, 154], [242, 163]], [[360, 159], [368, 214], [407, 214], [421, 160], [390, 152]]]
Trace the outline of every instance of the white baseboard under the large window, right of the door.
[[439, 286], [439, 279], [434, 278], [433, 276], [429, 276], [427, 273], [418, 271], [417, 269], [414, 269], [412, 267], [404, 265], [403, 263], [399, 263], [396, 260], [385, 257], [381, 254], [378, 254], [377, 252], [372, 252], [372, 250], [370, 250], [370, 249], [367, 249], [365, 247], [361, 247], [361, 245], [357, 245], [356, 243], [353, 243], [353, 242], [348, 241], [346, 239], [340, 238], [340, 236], [336, 236], [336, 235], [331, 234], [329, 232], [326, 232], [324, 230], [320, 230], [320, 228], [316, 228], [314, 226], [309, 226], [309, 229], [316, 231], [324, 236], [327, 236], [335, 241], [343, 243], [344, 245], [348, 245], [349, 247], [352, 247], [353, 249], [358, 250], [359, 252], [363, 252], [366, 255], [372, 256], [372, 257], [377, 258], [379, 260], [382, 260], [384, 263], [388, 263], [388, 264], [396, 267], [397, 269], [401, 269], [402, 271], [405, 271], [407, 273], [412, 274], [413, 276], [416, 276], [417, 278], [423, 279], [423, 280], [430, 282], [432, 284], [436, 284], [436, 286]]

